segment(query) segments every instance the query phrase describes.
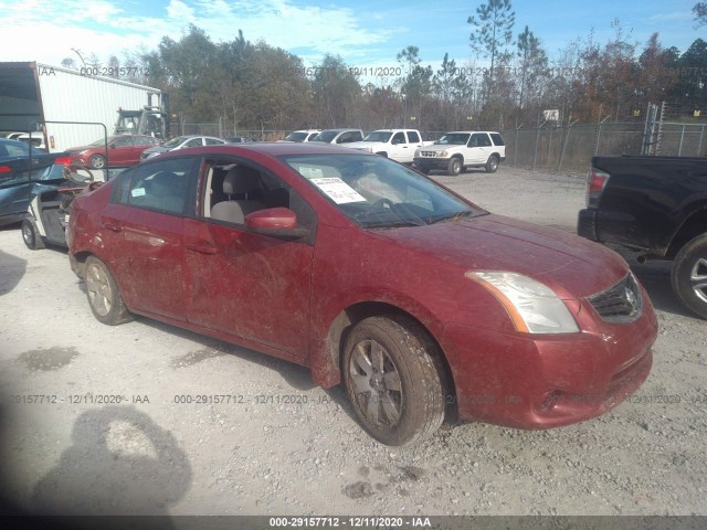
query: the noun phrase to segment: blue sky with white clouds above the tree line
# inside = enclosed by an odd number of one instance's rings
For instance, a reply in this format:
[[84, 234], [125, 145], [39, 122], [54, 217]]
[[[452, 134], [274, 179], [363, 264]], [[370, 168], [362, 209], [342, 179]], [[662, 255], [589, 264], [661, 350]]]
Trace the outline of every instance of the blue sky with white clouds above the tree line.
[[[515, 0], [517, 35], [527, 24], [550, 57], [578, 36], [594, 30], [594, 40], [611, 39], [619, 19], [632, 41], [642, 46], [654, 32], [661, 43], [685, 51], [707, 26], [696, 29], [692, 8], [697, 0]], [[344, 57], [350, 66], [395, 66], [397, 53], [416, 45], [424, 63], [439, 66], [445, 52], [468, 65], [468, 46], [476, 1], [326, 0], [3, 0], [0, 12], [3, 46], [0, 61], [38, 61], [59, 65], [95, 53], [110, 54], [139, 46], [152, 50], [163, 35], [179, 39], [191, 22], [214, 42], [232, 40], [238, 30], [251, 42], [260, 39], [317, 64], [325, 53]], [[477, 60], [483, 64], [481, 59]]]

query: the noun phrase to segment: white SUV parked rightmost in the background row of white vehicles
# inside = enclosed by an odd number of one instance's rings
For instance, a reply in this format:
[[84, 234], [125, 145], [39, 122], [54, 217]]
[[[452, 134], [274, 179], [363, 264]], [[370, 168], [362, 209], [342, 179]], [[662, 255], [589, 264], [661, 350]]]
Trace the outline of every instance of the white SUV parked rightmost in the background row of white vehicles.
[[414, 156], [415, 166], [425, 174], [442, 169], [455, 176], [468, 167], [484, 167], [487, 173], [493, 173], [504, 160], [506, 145], [493, 130], [445, 132], [432, 146], [418, 149]]

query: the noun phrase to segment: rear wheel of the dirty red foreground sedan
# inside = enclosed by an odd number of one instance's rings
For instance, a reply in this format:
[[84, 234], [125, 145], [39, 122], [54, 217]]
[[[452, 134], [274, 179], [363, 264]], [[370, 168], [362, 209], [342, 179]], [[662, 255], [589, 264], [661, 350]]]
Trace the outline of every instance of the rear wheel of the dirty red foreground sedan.
[[108, 326], [133, 320], [115, 278], [105, 263], [95, 256], [86, 259], [86, 297], [94, 317]]

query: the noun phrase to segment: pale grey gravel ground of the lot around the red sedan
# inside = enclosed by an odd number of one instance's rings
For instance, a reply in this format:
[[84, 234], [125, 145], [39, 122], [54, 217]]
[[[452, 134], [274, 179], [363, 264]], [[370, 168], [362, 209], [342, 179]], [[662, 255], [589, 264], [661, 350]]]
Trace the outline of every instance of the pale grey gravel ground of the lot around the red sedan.
[[[572, 232], [583, 204], [578, 176], [439, 180]], [[147, 319], [101, 325], [65, 253], [2, 230], [2, 490], [64, 513], [707, 515], [707, 324], [677, 305], [667, 267], [635, 271], [661, 333], [630, 402], [560, 430], [445, 426], [393, 449], [305, 369]]]

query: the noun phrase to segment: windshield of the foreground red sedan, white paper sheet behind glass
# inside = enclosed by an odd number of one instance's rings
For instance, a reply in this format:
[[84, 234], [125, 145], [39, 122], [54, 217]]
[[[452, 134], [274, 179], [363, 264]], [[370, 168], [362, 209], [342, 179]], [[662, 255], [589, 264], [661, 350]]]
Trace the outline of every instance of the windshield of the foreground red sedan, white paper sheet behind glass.
[[486, 213], [383, 157], [314, 155], [283, 160], [363, 227], [424, 225]]

